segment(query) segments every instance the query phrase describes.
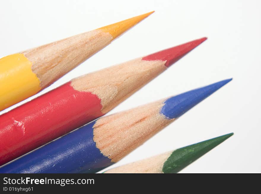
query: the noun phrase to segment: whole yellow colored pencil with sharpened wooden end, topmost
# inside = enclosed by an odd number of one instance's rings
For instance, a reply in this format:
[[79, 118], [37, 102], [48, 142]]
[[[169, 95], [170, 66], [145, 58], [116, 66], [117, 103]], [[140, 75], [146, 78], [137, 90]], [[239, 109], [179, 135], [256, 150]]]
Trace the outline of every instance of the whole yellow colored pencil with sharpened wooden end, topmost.
[[153, 12], [0, 59], [0, 110], [52, 84]]

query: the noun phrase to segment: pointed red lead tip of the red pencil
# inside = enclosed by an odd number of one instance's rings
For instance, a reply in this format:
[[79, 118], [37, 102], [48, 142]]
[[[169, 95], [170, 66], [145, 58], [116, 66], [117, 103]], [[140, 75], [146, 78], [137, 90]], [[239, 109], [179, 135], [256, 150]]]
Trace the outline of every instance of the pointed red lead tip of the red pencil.
[[148, 55], [146, 57], [143, 57], [142, 60], [146, 61], [154, 61], [154, 60], [161, 60], [166, 61], [165, 66], [169, 67], [176, 61], [178, 61], [180, 58], [182, 58], [184, 55], [186, 55], [188, 52], [190, 52], [193, 48], [200, 45], [202, 42], [207, 40], [206, 37], [200, 38], [197, 40], [193, 40], [188, 43], [184, 43], [182, 45], [178, 45], [172, 48], [168, 48], [166, 50], [162, 50], [157, 53], [153, 53], [151, 55]]

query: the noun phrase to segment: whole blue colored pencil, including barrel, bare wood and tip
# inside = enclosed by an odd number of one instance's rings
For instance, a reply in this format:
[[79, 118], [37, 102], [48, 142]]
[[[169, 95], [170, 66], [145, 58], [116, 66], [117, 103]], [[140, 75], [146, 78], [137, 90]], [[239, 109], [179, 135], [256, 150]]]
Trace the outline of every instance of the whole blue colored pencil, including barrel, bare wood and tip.
[[93, 121], [5, 165], [0, 173], [93, 173], [119, 161], [231, 79]]

